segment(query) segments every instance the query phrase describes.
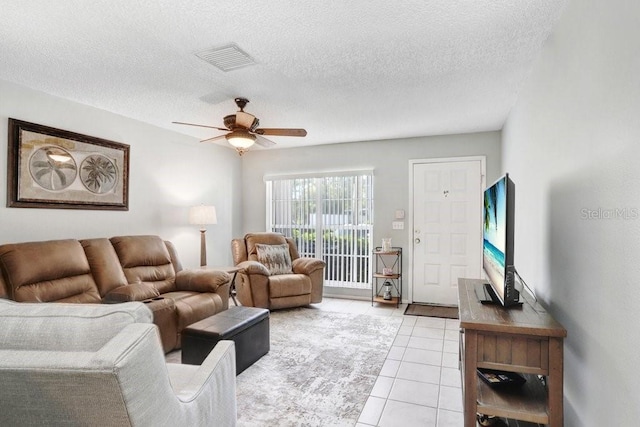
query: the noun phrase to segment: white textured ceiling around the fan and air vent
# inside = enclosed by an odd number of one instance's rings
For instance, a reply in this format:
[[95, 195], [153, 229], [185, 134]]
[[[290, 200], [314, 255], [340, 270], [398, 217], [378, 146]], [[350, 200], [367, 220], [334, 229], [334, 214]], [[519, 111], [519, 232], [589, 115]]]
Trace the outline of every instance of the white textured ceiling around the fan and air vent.
[[[501, 129], [566, 0], [0, 0], [0, 79], [199, 138], [249, 98], [277, 147]], [[256, 65], [195, 53], [237, 44]], [[134, 142], [131, 142], [134, 143]]]

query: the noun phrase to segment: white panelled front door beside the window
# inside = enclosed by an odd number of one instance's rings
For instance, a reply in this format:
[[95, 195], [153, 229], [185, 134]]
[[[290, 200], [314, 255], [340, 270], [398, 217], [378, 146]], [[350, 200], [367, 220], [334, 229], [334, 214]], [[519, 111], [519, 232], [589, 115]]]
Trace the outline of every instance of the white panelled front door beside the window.
[[412, 300], [457, 305], [482, 268], [481, 159], [413, 164]]

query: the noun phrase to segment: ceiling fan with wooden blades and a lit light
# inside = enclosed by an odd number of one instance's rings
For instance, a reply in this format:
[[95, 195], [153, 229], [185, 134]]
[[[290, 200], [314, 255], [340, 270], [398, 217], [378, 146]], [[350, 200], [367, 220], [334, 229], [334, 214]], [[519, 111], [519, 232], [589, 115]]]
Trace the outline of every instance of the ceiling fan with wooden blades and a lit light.
[[249, 150], [255, 143], [263, 147], [271, 147], [276, 143], [263, 135], [274, 136], [306, 136], [307, 131], [304, 129], [286, 129], [286, 128], [258, 128], [260, 121], [257, 117], [244, 111], [244, 107], [249, 103], [246, 98], [236, 98], [236, 105], [239, 110], [235, 114], [225, 116], [223, 119], [224, 128], [217, 126], [198, 125], [195, 123], [172, 122], [179, 125], [198, 126], [209, 129], [218, 129], [228, 132], [224, 135], [214, 136], [213, 138], [203, 139], [200, 142], [216, 141], [225, 138], [231, 144], [238, 154], [241, 156]]

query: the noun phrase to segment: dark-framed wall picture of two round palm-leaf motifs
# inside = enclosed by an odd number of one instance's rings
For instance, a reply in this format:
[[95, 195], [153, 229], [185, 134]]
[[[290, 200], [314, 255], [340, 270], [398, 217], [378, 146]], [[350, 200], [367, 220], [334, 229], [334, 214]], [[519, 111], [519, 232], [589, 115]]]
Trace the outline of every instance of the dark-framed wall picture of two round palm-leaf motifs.
[[129, 145], [9, 118], [7, 207], [129, 210]]

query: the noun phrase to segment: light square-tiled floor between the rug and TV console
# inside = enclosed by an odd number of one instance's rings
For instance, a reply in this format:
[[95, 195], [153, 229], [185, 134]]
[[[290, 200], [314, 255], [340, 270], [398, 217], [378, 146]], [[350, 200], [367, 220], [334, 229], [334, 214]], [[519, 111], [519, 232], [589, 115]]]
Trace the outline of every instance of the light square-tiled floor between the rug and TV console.
[[458, 370], [459, 322], [405, 316], [406, 304], [325, 298], [320, 310], [402, 317], [357, 427], [460, 427], [462, 390]]

